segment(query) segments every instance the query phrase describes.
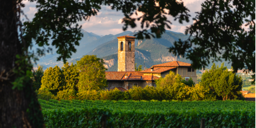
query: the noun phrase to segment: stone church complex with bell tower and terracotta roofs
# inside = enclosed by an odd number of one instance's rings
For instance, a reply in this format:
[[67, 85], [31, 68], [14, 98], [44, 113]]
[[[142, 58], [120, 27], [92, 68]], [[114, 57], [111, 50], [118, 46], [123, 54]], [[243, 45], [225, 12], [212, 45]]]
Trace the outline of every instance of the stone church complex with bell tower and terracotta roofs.
[[180, 74], [188, 80], [192, 77], [197, 84], [196, 69], [191, 64], [180, 61], [172, 61], [153, 65], [143, 71], [135, 71], [135, 38], [133, 36], [120, 36], [118, 39], [118, 71], [106, 72], [108, 90], [115, 87], [121, 91], [129, 90], [133, 86], [154, 86], [155, 80], [165, 77], [170, 71]]

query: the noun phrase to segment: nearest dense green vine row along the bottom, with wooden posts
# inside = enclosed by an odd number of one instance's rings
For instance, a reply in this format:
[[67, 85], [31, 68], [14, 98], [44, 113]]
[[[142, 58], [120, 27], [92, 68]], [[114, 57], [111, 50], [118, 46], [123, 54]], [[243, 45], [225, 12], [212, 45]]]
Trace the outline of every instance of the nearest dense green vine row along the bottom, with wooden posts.
[[205, 118], [205, 128], [255, 127], [255, 111], [221, 110], [170, 110], [135, 111], [108, 108], [44, 109], [47, 128], [101, 128], [102, 115], [107, 128], [199, 128]]

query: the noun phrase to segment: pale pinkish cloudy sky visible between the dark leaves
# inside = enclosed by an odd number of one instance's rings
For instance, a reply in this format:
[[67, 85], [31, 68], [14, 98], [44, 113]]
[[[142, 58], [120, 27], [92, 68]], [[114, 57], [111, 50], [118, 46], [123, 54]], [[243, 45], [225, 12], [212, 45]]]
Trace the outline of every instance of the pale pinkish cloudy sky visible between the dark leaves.
[[[168, 20], [172, 22], [171, 30], [174, 32], [181, 32], [184, 33], [186, 26], [189, 26], [193, 24], [192, 18], [196, 16], [195, 12], [200, 12], [201, 10], [201, 4], [205, 0], [182, 0], [184, 2], [184, 5], [188, 8], [190, 11], [189, 14], [191, 15], [190, 21], [183, 22], [183, 24], [180, 24], [178, 21], [174, 21], [172, 16], [168, 16]], [[25, 4], [25, 7], [23, 8], [24, 13], [27, 15], [28, 19], [31, 21], [37, 12], [36, 9], [36, 2], [29, 2], [27, 0], [23, 1]], [[116, 10], [111, 10], [109, 6], [102, 6], [101, 10], [98, 12], [98, 15], [92, 16], [90, 20], [83, 20], [78, 22], [79, 25], [82, 25], [82, 29], [84, 29], [87, 32], [92, 32], [97, 35], [109, 35], [109, 34], [118, 34], [123, 32], [123, 24], [122, 18], [124, 17], [123, 13], [121, 11], [116, 12]], [[128, 31], [135, 32], [136, 30], [140, 30], [140, 23], [139, 21], [136, 22], [137, 26], [136, 28], [128, 28]]]

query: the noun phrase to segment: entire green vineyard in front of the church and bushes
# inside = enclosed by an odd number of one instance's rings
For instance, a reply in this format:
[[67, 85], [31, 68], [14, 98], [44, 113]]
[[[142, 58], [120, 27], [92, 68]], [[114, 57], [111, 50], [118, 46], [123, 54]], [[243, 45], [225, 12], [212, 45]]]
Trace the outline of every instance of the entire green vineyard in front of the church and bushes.
[[255, 127], [251, 101], [40, 100], [46, 127]]

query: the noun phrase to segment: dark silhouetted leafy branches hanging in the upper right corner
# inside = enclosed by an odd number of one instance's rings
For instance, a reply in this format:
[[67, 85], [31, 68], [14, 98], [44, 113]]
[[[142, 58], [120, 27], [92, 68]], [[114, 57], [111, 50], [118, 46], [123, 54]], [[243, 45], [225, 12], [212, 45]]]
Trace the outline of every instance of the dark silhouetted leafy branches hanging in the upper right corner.
[[193, 20], [185, 32], [190, 38], [175, 42], [170, 52], [186, 56], [197, 69], [223, 59], [232, 62], [234, 72], [245, 68], [255, 73], [255, 1], [206, 0]]

